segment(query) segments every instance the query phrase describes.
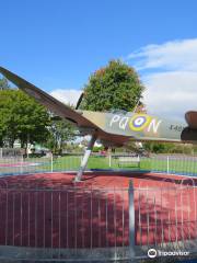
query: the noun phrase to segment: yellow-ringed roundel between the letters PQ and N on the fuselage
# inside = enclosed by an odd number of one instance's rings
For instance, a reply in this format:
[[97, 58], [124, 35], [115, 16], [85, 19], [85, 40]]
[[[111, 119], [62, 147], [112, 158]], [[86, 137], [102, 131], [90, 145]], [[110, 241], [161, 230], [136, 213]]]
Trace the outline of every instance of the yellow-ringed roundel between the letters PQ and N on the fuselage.
[[129, 127], [132, 130], [140, 132], [150, 123], [148, 115], [135, 115], [129, 122]]

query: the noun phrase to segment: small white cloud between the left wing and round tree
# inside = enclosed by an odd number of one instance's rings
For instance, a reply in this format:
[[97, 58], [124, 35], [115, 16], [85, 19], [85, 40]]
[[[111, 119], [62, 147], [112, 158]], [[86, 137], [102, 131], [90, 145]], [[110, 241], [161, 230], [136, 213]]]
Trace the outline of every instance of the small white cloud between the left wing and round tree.
[[81, 95], [81, 90], [74, 90], [74, 89], [57, 89], [50, 92], [50, 95], [56, 98], [57, 100], [66, 103], [66, 104], [71, 104], [76, 105], [80, 95]]

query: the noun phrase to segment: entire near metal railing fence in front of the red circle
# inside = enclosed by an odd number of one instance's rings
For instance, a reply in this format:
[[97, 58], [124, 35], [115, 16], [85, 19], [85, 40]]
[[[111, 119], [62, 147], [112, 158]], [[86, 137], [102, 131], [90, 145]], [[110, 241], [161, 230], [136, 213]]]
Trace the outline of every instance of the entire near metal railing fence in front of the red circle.
[[131, 182], [128, 188], [8, 182], [0, 180], [0, 258], [142, 259], [151, 248], [196, 252], [193, 179], [160, 187], [141, 182], [137, 188]]

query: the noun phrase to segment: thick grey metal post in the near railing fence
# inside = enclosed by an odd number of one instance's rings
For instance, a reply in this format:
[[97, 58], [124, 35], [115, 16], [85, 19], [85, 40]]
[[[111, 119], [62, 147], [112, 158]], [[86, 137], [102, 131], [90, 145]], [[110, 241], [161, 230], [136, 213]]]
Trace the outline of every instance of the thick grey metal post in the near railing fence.
[[129, 253], [130, 260], [135, 258], [135, 199], [132, 181], [129, 182]]

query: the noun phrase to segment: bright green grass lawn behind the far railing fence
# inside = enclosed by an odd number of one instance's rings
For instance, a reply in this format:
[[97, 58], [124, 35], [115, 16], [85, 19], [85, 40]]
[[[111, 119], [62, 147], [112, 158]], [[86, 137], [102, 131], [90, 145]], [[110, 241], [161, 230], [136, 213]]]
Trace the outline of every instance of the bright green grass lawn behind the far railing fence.
[[[78, 170], [81, 163], [81, 157], [79, 156], [66, 156], [60, 157], [54, 160], [53, 169], [54, 171], [66, 171], [66, 170]], [[37, 170], [43, 169], [44, 171], [50, 171], [51, 163], [49, 160], [46, 164], [38, 165]], [[121, 170], [139, 170], [137, 163], [118, 165], [118, 158], [112, 158], [111, 167], [109, 159], [106, 157], [90, 157], [88, 162], [88, 169], [121, 169]], [[141, 158], [140, 160], [140, 170], [148, 171], [167, 171], [167, 160], [162, 159], [150, 159], [150, 158]], [[169, 161], [169, 172], [172, 173], [188, 173], [188, 174], [197, 174], [197, 162], [193, 160], [186, 159], [176, 159]]]

